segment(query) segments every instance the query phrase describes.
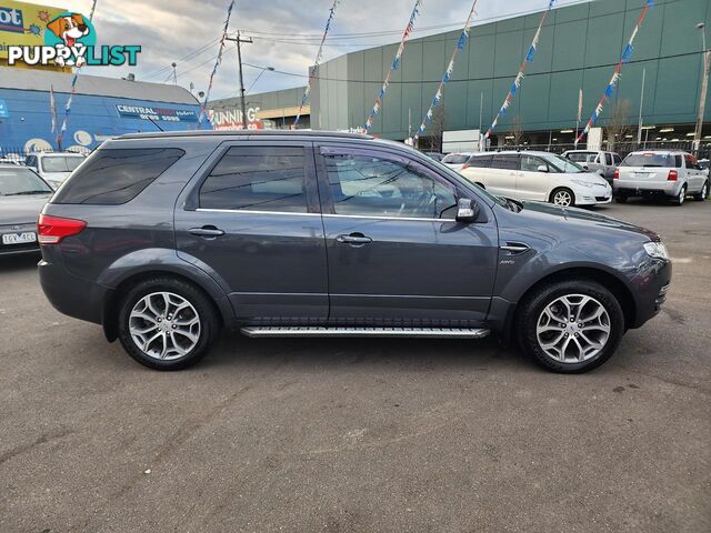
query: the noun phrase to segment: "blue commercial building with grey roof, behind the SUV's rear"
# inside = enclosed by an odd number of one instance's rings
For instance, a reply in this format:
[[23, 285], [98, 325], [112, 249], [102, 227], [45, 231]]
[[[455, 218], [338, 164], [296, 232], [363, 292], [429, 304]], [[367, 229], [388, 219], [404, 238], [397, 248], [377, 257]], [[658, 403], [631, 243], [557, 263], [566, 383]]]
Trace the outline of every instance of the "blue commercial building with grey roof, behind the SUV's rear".
[[[0, 67], [0, 155], [88, 151], [123, 133], [198, 127], [200, 104], [181, 87], [80, 74], [60, 145], [71, 81], [72, 74]], [[207, 120], [202, 129], [211, 129]]]

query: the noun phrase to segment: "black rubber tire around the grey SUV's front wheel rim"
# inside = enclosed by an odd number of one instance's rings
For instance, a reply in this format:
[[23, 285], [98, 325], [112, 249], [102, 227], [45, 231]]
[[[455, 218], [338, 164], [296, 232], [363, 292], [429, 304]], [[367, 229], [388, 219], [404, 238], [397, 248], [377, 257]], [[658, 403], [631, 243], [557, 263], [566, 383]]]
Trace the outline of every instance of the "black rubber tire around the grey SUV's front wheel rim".
[[[603, 348], [595, 355], [581, 362], [563, 362], [549, 355], [541, 348], [537, 326], [543, 311], [549, 305], [562, 296], [578, 294], [592, 296], [597, 303], [604, 308], [609, 318], [610, 332]], [[565, 322], [567, 325], [568, 322]], [[625, 331], [624, 313], [620, 302], [600, 283], [585, 279], [554, 282], [529, 294], [519, 305], [515, 326], [521, 350], [547, 370], [563, 374], [588, 372], [600, 366], [615, 352]], [[563, 359], [565, 358], [563, 356]]]

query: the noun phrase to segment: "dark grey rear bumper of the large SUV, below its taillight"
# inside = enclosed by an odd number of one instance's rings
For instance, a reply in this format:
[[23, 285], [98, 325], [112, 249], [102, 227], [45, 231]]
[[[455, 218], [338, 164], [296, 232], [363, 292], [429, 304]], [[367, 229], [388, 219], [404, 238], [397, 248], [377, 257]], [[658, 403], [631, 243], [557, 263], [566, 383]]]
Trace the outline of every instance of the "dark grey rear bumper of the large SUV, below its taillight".
[[40, 284], [52, 306], [74, 319], [101, 324], [103, 301], [109, 289], [77, 278], [46, 260], [39, 265]]

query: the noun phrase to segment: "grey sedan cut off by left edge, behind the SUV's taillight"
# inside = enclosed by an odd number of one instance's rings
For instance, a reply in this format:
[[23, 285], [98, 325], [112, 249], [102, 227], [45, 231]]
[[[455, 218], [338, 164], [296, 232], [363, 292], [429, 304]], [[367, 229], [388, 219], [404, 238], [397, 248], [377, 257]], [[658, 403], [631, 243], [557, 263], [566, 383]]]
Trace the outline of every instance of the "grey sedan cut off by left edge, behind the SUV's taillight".
[[0, 164], [0, 255], [38, 253], [37, 217], [52, 189], [32, 170]]

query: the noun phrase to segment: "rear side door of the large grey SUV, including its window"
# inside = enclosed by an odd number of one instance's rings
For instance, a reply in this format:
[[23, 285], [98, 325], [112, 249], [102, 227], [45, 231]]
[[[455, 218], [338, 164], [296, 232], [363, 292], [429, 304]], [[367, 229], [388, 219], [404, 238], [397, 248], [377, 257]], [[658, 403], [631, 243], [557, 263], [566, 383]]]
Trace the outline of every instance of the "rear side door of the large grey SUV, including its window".
[[178, 253], [227, 288], [243, 322], [324, 323], [328, 265], [312, 144], [236, 141], [206, 165], [176, 209]]

